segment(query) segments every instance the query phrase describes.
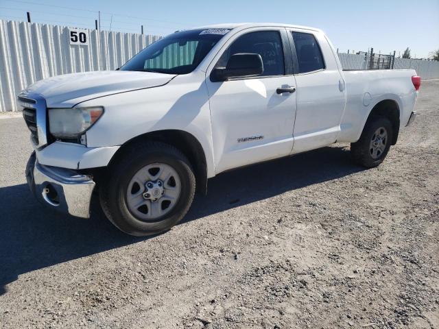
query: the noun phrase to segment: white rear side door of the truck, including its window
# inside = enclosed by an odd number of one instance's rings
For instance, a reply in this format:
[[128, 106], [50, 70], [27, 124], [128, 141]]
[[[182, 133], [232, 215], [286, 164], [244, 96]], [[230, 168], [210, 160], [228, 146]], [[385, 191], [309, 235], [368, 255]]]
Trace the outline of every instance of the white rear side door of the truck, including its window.
[[336, 54], [322, 32], [289, 29], [289, 38], [297, 84], [292, 153], [299, 153], [335, 143], [346, 91]]

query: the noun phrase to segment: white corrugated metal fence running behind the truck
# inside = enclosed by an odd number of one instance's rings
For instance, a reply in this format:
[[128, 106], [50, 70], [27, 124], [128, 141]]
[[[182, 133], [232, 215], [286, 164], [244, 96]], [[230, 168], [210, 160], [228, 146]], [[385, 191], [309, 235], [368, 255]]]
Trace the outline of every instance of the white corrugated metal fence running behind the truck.
[[[88, 45], [71, 45], [69, 27], [0, 20], [0, 112], [19, 110], [16, 95], [29, 84], [54, 75], [117, 69], [161, 38], [86, 31]], [[193, 49], [188, 46], [186, 51]], [[365, 55], [339, 53], [338, 56], [346, 70], [368, 68]], [[423, 79], [439, 78], [438, 61], [395, 58], [394, 69], [415, 69]]]

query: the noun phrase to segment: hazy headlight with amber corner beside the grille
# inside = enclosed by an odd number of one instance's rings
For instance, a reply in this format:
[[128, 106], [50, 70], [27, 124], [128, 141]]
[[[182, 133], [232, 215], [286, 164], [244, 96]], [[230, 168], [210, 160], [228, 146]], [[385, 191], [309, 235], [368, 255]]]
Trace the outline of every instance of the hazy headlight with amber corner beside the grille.
[[77, 138], [104, 113], [104, 108], [50, 108], [49, 130], [58, 138]]

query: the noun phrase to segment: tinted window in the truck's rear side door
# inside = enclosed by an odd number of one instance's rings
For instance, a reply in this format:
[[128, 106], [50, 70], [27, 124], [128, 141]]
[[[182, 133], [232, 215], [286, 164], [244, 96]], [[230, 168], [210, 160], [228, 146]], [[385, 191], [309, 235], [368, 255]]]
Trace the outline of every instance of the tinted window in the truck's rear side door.
[[322, 51], [313, 34], [292, 32], [296, 47], [299, 73], [324, 69]]

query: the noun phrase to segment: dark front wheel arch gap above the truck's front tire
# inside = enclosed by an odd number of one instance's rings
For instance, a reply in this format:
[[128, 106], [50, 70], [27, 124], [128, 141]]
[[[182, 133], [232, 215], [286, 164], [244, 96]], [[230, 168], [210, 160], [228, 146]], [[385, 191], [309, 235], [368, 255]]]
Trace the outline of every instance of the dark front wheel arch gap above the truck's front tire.
[[172, 145], [179, 149], [188, 158], [193, 167], [196, 180], [197, 192], [206, 194], [207, 192], [207, 178], [208, 178], [208, 163], [206, 153], [200, 141], [198, 141], [193, 134], [184, 130], [155, 130], [136, 136], [126, 143], [123, 143], [112, 156], [108, 167], [115, 163], [119, 158], [123, 157], [124, 150], [134, 143], [142, 143], [146, 141], [155, 141]]

